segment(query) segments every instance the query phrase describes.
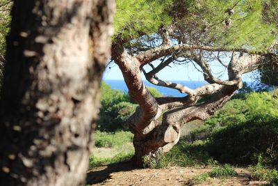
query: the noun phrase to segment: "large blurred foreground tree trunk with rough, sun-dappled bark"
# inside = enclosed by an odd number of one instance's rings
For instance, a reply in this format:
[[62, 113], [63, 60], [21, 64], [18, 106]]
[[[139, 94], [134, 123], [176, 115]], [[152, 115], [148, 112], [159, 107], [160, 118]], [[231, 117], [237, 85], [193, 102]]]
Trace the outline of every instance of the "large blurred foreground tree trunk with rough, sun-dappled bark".
[[15, 1], [0, 102], [0, 185], [84, 185], [113, 0]]

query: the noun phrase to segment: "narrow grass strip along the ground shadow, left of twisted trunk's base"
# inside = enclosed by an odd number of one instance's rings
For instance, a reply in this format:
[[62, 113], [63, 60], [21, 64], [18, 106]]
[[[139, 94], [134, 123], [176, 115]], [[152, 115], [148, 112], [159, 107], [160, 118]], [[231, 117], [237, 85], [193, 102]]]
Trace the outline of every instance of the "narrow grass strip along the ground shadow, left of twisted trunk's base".
[[111, 158], [101, 158], [101, 157], [95, 157], [92, 155], [89, 159], [89, 168], [91, 169], [94, 166], [102, 166], [102, 165], [107, 165], [107, 164], [114, 164], [117, 162], [125, 162], [128, 160], [131, 160], [131, 157], [133, 157], [134, 152], [122, 152], [114, 157]]

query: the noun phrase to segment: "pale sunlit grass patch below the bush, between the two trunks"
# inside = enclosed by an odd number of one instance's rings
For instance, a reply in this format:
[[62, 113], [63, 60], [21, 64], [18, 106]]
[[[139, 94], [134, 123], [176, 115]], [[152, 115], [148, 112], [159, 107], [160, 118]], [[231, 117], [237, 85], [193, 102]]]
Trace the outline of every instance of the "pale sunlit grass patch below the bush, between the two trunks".
[[95, 146], [97, 147], [122, 147], [126, 143], [132, 142], [133, 134], [126, 131], [118, 132], [100, 132], [96, 131], [93, 134]]

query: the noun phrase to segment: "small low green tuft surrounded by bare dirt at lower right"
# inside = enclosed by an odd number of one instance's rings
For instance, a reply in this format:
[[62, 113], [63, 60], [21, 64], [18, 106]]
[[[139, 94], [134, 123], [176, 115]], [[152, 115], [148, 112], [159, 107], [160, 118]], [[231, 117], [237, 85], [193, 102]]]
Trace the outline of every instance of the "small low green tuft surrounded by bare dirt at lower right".
[[236, 173], [230, 164], [224, 164], [224, 166], [215, 167], [208, 174], [211, 178], [227, 178], [229, 176], [238, 175], [238, 173]]

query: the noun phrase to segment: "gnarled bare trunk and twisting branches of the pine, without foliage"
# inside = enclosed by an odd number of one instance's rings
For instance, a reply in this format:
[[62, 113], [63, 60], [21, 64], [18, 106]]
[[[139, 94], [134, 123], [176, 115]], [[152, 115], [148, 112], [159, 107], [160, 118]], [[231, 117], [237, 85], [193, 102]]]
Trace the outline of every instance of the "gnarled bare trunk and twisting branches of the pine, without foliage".
[[[171, 46], [169, 43], [163, 42], [161, 46], [137, 55], [127, 52], [121, 42], [116, 42], [112, 46], [112, 59], [122, 70], [131, 98], [139, 104], [138, 109], [128, 121], [131, 132], [134, 134], [133, 145], [138, 167], [143, 166], [143, 157], [145, 160], [157, 160], [160, 153], [169, 151], [177, 144], [182, 124], [196, 119], [204, 120], [212, 116], [234, 95], [238, 88], [242, 87], [241, 75], [258, 68], [261, 61], [260, 55], [237, 56], [233, 53], [229, 65], [226, 66], [229, 79], [223, 81], [213, 77], [210, 65], [203, 57], [203, 52], [221, 52], [225, 49], [199, 45]], [[156, 73], [179, 57], [177, 55], [188, 58], [199, 65], [204, 73], [204, 79], [209, 84], [190, 89], [182, 84], [158, 79]], [[167, 56], [170, 57], [167, 59]], [[156, 67], [150, 64], [152, 70], [145, 72], [144, 65], [161, 57], [166, 60]], [[152, 84], [174, 88], [186, 95], [181, 98], [154, 98], [142, 82], [141, 71]], [[211, 98], [200, 102], [201, 98], [208, 95]], [[162, 116], [162, 121], [158, 121], [160, 116]]]

